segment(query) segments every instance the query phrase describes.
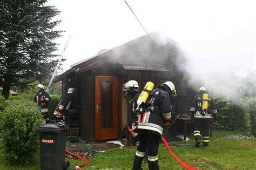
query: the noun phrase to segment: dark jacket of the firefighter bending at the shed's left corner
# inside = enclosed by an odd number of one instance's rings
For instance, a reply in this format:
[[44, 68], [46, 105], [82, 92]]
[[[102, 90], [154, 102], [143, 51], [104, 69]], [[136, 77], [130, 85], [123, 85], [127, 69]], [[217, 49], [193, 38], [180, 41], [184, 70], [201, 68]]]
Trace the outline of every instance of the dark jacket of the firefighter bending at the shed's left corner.
[[60, 101], [59, 106], [57, 107], [57, 111], [64, 115], [68, 114], [70, 108], [73, 108], [75, 95], [74, 93], [68, 93], [64, 96], [62, 101]]

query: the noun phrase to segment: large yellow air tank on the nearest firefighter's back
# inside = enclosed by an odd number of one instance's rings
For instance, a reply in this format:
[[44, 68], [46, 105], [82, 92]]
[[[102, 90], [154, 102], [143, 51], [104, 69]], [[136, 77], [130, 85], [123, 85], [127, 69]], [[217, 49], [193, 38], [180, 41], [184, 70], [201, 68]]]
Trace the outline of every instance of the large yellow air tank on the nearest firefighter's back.
[[137, 100], [138, 107], [136, 108], [136, 111], [140, 111], [140, 107], [146, 103], [147, 98], [150, 96], [150, 92], [153, 90], [154, 84], [151, 81], [148, 81], [142, 90], [142, 93], [140, 93], [139, 98]]

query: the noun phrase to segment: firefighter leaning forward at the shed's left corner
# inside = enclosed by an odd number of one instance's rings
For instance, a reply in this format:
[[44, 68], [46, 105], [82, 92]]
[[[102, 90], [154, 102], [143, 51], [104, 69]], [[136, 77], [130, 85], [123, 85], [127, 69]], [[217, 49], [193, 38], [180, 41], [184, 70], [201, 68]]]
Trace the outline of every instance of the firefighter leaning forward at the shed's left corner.
[[66, 120], [68, 118], [68, 113], [70, 108], [73, 108], [75, 100], [75, 88], [69, 88], [68, 93], [60, 101], [55, 112], [53, 113], [58, 120]]

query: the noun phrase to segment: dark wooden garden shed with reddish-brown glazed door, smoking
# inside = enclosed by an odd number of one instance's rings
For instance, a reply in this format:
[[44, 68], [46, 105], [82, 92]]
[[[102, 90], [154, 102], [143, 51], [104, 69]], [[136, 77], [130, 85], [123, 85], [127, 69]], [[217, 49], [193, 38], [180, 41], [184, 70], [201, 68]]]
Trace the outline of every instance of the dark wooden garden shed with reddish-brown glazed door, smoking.
[[79, 112], [79, 135], [85, 140], [109, 140], [122, 137], [129, 124], [130, 109], [123, 98], [123, 85], [137, 80], [140, 90], [147, 81], [158, 87], [170, 80], [178, 97], [173, 112], [189, 113], [194, 91], [187, 86], [182, 69], [178, 68], [179, 51], [173, 42], [154, 42], [147, 36], [104, 50], [95, 56], [71, 65], [72, 69], [54, 79], [62, 82], [62, 93], [77, 88], [75, 107]]

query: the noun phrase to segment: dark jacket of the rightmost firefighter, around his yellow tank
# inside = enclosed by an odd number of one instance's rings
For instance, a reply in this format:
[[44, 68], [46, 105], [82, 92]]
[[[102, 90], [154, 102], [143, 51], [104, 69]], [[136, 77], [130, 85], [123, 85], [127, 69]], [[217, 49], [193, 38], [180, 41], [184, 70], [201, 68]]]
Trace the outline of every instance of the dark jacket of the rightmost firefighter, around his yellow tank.
[[199, 92], [196, 96], [194, 96], [194, 101], [191, 105], [190, 112], [191, 114], [194, 114], [194, 118], [211, 119], [212, 114], [217, 114], [217, 108], [213, 103], [213, 100], [211, 98], [208, 98], [207, 112], [205, 114], [202, 114], [203, 110], [201, 106], [203, 101], [203, 94], [204, 92]]

